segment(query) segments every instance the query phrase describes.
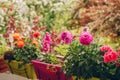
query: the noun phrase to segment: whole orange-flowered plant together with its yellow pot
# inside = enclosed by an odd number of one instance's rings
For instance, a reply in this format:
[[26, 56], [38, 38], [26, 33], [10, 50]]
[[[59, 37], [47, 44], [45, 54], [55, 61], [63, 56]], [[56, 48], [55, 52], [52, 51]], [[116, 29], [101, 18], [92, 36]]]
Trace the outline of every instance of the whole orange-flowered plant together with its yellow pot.
[[29, 79], [35, 79], [35, 73], [31, 60], [37, 59], [39, 54], [38, 37], [39, 32], [33, 32], [32, 37], [21, 36], [20, 33], [14, 33], [13, 37], [13, 49], [4, 54], [4, 58], [7, 60], [10, 71], [13, 74], [21, 75]]

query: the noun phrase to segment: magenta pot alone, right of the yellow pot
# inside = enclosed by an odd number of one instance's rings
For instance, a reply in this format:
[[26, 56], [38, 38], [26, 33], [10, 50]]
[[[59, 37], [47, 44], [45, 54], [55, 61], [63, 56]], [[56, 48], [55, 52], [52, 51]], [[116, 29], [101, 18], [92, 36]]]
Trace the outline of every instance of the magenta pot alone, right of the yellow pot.
[[32, 60], [37, 78], [40, 80], [66, 80], [61, 66]]

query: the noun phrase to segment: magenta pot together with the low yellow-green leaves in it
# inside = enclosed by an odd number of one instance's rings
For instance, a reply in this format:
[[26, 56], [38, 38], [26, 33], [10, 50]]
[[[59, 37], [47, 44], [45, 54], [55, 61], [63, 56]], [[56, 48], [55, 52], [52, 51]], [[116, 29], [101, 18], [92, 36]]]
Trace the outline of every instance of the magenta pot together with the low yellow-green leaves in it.
[[65, 80], [61, 61], [54, 54], [45, 54], [40, 60], [32, 60], [37, 79]]

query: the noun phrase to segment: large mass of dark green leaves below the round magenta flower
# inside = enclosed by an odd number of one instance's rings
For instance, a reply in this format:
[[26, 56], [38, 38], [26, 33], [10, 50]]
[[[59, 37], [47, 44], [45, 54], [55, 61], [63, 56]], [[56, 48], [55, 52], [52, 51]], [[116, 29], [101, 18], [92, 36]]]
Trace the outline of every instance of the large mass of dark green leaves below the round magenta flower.
[[99, 47], [96, 43], [83, 46], [74, 41], [64, 57], [67, 76], [76, 76], [76, 80], [88, 80], [92, 77], [100, 80], [119, 80], [120, 67], [116, 67], [114, 62], [105, 63]]

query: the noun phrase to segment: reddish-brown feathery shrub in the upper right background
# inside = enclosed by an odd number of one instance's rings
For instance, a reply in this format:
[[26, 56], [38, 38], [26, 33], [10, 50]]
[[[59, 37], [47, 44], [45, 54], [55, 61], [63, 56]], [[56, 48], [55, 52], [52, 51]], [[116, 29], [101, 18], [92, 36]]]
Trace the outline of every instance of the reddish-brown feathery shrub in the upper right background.
[[90, 28], [100, 44], [120, 49], [120, 0], [77, 0], [70, 28], [84, 26]]

